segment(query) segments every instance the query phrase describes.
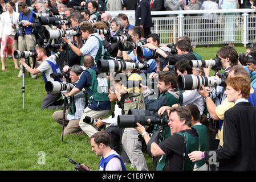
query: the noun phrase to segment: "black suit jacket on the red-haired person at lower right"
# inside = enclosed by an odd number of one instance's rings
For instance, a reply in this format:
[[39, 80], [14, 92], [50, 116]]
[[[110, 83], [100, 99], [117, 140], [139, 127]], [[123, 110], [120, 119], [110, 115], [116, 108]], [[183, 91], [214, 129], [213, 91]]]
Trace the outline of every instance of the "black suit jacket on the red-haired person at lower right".
[[[239, 102], [227, 110], [223, 132], [224, 145], [216, 150], [219, 170], [256, 170], [256, 107]], [[209, 159], [209, 151], [205, 158]]]

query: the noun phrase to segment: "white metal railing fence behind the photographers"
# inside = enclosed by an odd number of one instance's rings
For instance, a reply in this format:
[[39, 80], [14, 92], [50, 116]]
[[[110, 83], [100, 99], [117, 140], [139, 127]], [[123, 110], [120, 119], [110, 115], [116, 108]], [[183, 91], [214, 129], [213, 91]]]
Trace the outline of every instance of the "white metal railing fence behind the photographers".
[[[113, 17], [120, 13], [108, 12]], [[251, 9], [152, 11], [151, 32], [160, 35], [161, 45], [176, 43], [182, 35], [188, 35], [192, 45], [253, 43], [256, 42], [255, 12]], [[127, 14], [130, 24], [135, 24], [135, 11], [122, 13]]]

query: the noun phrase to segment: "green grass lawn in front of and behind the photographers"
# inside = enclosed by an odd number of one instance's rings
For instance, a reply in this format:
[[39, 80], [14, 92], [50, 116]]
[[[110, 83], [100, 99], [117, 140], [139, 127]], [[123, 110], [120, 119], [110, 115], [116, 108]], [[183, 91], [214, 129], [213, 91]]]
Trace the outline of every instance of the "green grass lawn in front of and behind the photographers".
[[[202, 59], [216, 57], [223, 45], [210, 48], [197, 46], [194, 52]], [[243, 44], [235, 44], [238, 54], [246, 52]], [[62, 127], [52, 118], [55, 110], [40, 110], [45, 96], [42, 74], [32, 79], [27, 73], [25, 78], [25, 109], [22, 107], [22, 78], [13, 60], [6, 60], [6, 70], [0, 71], [0, 171], [72, 171], [76, 162], [97, 169], [100, 157], [95, 156], [88, 143], [88, 136], [67, 135], [62, 142]], [[152, 158], [145, 154], [150, 170]], [[43, 160], [45, 159], [45, 161]], [[128, 170], [135, 170], [129, 168]]]

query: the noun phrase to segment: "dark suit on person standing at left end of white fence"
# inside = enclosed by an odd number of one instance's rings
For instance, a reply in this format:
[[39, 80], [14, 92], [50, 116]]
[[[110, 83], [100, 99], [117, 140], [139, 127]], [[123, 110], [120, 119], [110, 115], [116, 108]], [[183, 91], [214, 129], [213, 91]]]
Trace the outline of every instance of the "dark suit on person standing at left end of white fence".
[[148, 0], [141, 0], [135, 10], [135, 26], [153, 27]]

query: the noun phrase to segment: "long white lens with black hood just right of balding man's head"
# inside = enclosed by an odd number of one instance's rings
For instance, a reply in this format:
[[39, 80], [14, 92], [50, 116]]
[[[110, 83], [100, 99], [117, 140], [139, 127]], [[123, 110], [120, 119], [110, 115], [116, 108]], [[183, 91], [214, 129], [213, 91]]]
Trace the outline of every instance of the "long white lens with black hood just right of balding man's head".
[[99, 73], [113, 73], [127, 71], [130, 69], [147, 69], [147, 63], [130, 63], [116, 60], [99, 60], [97, 61], [97, 71]]

